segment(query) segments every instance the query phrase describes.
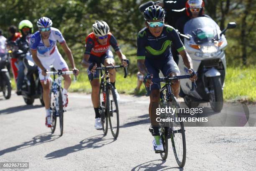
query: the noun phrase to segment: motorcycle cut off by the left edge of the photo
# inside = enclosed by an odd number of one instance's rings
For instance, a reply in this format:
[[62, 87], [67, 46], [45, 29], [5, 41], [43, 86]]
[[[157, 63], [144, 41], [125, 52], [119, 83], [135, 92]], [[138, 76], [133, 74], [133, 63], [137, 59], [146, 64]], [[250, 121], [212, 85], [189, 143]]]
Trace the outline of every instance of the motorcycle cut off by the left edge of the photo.
[[0, 49], [0, 92], [3, 92], [5, 99], [10, 99], [12, 90], [8, 71], [8, 66], [10, 66], [9, 56], [10, 52], [6, 53], [5, 50]]

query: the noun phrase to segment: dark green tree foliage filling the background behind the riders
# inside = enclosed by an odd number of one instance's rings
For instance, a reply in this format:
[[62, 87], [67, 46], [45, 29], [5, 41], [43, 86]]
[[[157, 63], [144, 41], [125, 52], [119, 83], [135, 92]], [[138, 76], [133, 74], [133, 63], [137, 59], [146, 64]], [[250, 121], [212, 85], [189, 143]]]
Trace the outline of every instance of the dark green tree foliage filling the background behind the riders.
[[[42, 16], [53, 20], [53, 27], [59, 28], [67, 44], [74, 54], [74, 59], [79, 68], [84, 53], [85, 37], [92, 32], [95, 20], [105, 20], [110, 31], [117, 38], [120, 46], [128, 50], [125, 53], [136, 56], [137, 33], [143, 28], [143, 14], [138, 6], [147, 0], [1, 0], [0, 28], [8, 36], [8, 26], [15, 25], [21, 20], [31, 20], [34, 30], [37, 30], [36, 21]], [[251, 3], [251, 4], [250, 4]], [[248, 5], [250, 4], [250, 5]], [[238, 26], [227, 31], [228, 48], [226, 49], [228, 65], [241, 64], [242, 47], [246, 46], [247, 63], [255, 64], [256, 56], [256, 28], [255, 3], [252, 0], [207, 0], [206, 13], [224, 26], [235, 21]], [[241, 23], [246, 14], [246, 26]], [[246, 45], [241, 43], [241, 29], [246, 27]], [[61, 48], [61, 54], [64, 55]], [[128, 55], [129, 56], [129, 55]], [[136, 65], [134, 64], [136, 67]]]

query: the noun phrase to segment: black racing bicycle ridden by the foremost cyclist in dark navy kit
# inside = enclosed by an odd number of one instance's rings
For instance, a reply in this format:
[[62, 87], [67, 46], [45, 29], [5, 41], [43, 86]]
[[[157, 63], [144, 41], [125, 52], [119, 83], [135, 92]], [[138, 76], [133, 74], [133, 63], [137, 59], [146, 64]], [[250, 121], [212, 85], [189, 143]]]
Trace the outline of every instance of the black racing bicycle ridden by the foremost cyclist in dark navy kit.
[[[162, 78], [153, 78], [152, 82], [160, 83], [164, 82], [165, 85], [160, 89], [160, 107], [161, 108], [177, 108], [179, 109], [179, 103], [177, 102], [177, 98], [172, 94], [171, 85], [174, 84], [174, 80], [178, 79], [189, 79], [193, 77], [194, 74], [190, 75], [182, 75], [182, 76], [174, 76], [174, 77], [162, 77]], [[192, 91], [195, 89], [196, 84], [192, 82]], [[150, 94], [150, 87], [146, 87], [147, 94]], [[176, 110], [177, 111], [177, 110]], [[169, 122], [159, 122], [159, 133], [161, 136], [161, 140], [164, 146], [164, 151], [156, 151], [156, 153], [160, 153], [160, 156], [163, 160], [166, 160], [168, 156], [168, 139], [171, 139], [172, 149], [174, 152], [175, 159], [179, 165], [179, 167], [184, 167], [186, 162], [186, 138], [185, 138], [185, 129], [182, 121], [179, 120], [181, 113], [163, 113], [160, 115], [161, 119], [172, 118], [173, 121], [169, 120]], [[177, 119], [176, 119], [177, 118]], [[153, 135], [153, 129], [149, 128], [149, 131]]]

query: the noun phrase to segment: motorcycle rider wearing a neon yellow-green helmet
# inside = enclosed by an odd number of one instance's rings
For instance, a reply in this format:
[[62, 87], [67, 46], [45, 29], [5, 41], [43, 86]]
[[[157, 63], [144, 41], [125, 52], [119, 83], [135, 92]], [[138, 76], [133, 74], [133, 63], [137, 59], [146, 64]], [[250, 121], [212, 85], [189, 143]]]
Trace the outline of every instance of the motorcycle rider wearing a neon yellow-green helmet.
[[[33, 24], [29, 20], [22, 20], [19, 23], [19, 31], [21, 33], [21, 37], [18, 38], [15, 43], [18, 46], [18, 49], [22, 50], [24, 53], [29, 51], [29, 41], [33, 33]], [[24, 80], [24, 69], [25, 66], [23, 64], [23, 59], [21, 59], [18, 55], [18, 49], [13, 51], [13, 56], [18, 58], [18, 77], [17, 77], [17, 94], [21, 95], [21, 87]]]

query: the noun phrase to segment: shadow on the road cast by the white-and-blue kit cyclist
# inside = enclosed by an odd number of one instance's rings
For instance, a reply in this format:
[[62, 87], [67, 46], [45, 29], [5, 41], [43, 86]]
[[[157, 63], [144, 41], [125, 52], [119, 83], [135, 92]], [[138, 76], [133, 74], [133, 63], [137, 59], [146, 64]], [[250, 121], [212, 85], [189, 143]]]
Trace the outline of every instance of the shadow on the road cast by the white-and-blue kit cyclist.
[[23, 144], [16, 145], [14, 147], [10, 147], [10, 148], [6, 148], [4, 150], [1, 150], [0, 151], [0, 156], [2, 156], [5, 153], [10, 153], [10, 152], [13, 152], [13, 151], [22, 150], [24, 148], [32, 147], [32, 146], [35, 146], [35, 145], [40, 145], [42, 143], [51, 142], [53, 140], [56, 140], [59, 137], [60, 137], [59, 135], [52, 135], [51, 133], [39, 134], [39, 135], [33, 137], [32, 140], [24, 142]]

